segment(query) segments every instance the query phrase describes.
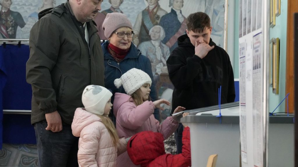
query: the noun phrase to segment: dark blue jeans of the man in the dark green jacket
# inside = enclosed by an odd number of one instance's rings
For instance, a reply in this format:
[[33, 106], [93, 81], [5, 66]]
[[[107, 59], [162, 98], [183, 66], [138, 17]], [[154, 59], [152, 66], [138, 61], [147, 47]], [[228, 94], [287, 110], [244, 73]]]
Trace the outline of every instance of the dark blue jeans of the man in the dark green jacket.
[[34, 124], [40, 167], [78, 166], [79, 138], [72, 135], [71, 125], [60, 132], [46, 130], [46, 120]]

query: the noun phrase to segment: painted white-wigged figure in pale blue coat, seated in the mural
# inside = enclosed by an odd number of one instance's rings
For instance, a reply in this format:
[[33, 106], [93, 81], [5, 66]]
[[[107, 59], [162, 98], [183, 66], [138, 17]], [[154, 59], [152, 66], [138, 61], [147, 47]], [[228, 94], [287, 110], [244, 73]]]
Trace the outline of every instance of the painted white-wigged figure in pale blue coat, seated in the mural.
[[170, 50], [161, 40], [164, 39], [164, 29], [161, 26], [153, 26], [149, 35], [151, 40], [142, 42], [138, 49], [142, 54], [150, 59], [154, 80], [158, 80], [161, 73], [167, 73], [167, 58], [170, 56]]

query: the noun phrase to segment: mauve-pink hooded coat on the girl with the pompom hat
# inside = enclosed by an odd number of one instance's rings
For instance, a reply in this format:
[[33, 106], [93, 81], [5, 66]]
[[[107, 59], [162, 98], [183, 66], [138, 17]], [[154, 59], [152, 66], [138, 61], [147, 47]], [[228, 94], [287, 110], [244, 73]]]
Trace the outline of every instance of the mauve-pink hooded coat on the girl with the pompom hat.
[[[164, 139], [170, 137], [178, 127], [178, 122], [168, 116], [162, 124], [154, 118], [155, 106], [152, 101], [145, 101], [136, 106], [131, 96], [115, 93], [114, 115], [116, 116], [116, 129], [119, 137], [131, 137], [138, 132], [150, 130], [162, 133]], [[124, 165], [125, 164], [125, 165]], [[117, 167], [136, 167], [125, 152], [117, 157]]]

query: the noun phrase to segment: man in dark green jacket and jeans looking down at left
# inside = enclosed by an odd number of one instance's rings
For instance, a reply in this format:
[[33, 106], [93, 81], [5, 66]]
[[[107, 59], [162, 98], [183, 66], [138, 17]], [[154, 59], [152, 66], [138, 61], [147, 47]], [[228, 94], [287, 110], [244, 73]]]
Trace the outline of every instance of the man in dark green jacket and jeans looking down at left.
[[75, 109], [87, 85], [104, 86], [100, 38], [92, 22], [102, 0], [68, 0], [38, 14], [30, 31], [27, 82], [40, 166], [78, 166]]

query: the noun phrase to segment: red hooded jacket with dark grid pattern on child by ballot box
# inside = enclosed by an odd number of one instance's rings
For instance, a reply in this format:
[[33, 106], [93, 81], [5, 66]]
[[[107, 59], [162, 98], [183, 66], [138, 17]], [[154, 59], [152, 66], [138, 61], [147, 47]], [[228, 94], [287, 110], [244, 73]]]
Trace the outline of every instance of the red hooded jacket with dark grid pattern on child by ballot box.
[[143, 131], [132, 136], [127, 144], [127, 152], [135, 165], [142, 167], [188, 167], [191, 166], [190, 129], [185, 127], [182, 134], [182, 153], [166, 154], [161, 133]]

